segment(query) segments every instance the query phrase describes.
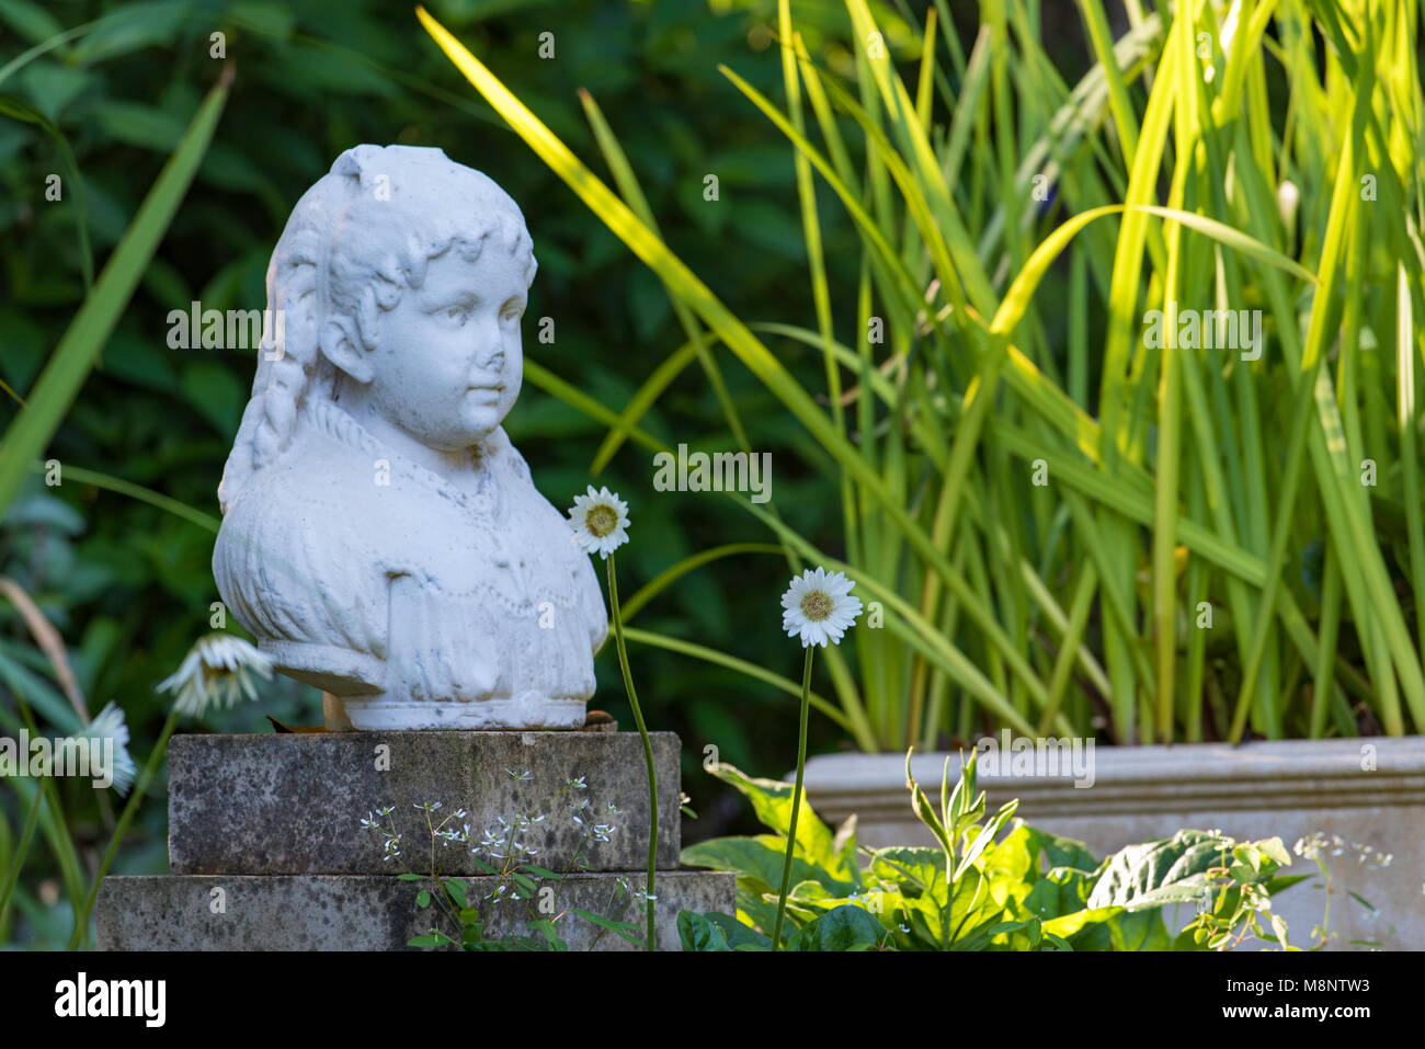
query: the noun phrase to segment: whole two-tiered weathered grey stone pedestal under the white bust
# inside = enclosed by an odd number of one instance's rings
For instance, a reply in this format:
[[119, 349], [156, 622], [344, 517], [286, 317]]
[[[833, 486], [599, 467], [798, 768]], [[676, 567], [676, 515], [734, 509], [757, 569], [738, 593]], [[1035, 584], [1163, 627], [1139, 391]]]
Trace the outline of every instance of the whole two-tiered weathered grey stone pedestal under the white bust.
[[[677, 869], [677, 735], [654, 733], [653, 750], [658, 946], [677, 949], [678, 911], [732, 912], [735, 877]], [[462, 879], [486, 936], [561, 915], [570, 949], [634, 949], [574, 908], [643, 922], [636, 733], [175, 735], [168, 770], [172, 874], [105, 879], [100, 949], [396, 951], [432, 924], [459, 936], [418, 906], [432, 868]], [[517, 892], [490, 874], [516, 862], [546, 872], [526, 875], [529, 899], [487, 898]], [[406, 871], [422, 879], [396, 877]]]

